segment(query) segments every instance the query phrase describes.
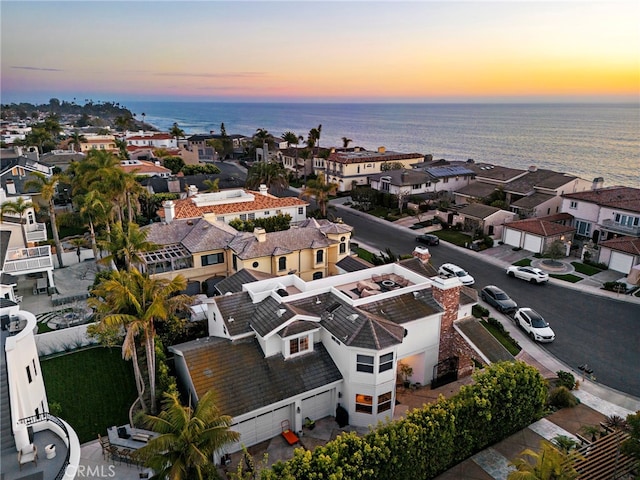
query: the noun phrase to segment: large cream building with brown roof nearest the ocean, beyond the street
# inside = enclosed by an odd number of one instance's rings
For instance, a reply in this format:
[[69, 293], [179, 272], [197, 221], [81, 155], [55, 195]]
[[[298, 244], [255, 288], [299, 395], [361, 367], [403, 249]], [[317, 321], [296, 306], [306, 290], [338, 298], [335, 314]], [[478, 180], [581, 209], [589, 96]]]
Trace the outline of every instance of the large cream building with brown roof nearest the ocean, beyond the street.
[[385, 172], [389, 166], [401, 166], [410, 169], [411, 165], [422, 161], [420, 153], [398, 153], [379, 147], [377, 151], [361, 150], [340, 151], [331, 149], [325, 161], [326, 180], [338, 185], [338, 192], [350, 191], [353, 185], [366, 185], [370, 176]]

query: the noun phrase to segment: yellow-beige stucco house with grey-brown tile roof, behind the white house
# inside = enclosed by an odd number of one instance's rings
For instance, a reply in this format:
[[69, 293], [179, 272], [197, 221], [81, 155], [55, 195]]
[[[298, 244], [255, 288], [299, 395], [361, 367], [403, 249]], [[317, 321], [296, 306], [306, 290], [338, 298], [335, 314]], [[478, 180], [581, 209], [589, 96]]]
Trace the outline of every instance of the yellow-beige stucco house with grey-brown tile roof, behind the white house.
[[[336, 264], [350, 254], [353, 228], [328, 220], [307, 219], [289, 230], [238, 232], [224, 222], [181, 219], [143, 227], [159, 246], [143, 254], [150, 275], [215, 284], [244, 268], [273, 276], [298, 274], [305, 280], [339, 273]], [[211, 293], [213, 294], [213, 293]]]

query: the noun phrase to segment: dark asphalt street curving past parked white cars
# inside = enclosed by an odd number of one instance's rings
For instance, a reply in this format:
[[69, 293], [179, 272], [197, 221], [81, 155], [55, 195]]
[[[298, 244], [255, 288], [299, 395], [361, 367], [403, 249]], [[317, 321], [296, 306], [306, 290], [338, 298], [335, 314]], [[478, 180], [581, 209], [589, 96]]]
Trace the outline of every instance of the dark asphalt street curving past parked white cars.
[[[338, 208], [332, 213], [354, 227], [354, 241], [379, 251], [389, 247], [401, 255], [411, 253], [416, 245], [416, 234], [410, 230], [399, 230], [350, 209]], [[497, 285], [519, 306], [538, 311], [556, 334], [556, 340], [543, 348], [573, 369], [576, 376], [581, 374], [578, 366], [586, 363], [598, 383], [640, 397], [640, 305], [559, 285], [531, 285], [507, 277], [503, 268], [446, 242], [429, 247], [429, 251], [436, 267], [455, 263], [475, 278], [478, 290]], [[501, 317], [511, 321], [506, 315]]]

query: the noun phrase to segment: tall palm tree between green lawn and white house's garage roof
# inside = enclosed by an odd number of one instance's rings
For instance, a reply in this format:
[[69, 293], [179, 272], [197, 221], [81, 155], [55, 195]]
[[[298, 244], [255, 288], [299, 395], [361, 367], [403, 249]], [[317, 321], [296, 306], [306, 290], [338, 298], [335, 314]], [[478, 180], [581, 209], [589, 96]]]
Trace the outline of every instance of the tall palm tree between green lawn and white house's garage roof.
[[168, 318], [180, 310], [188, 308], [191, 297], [176, 295], [187, 285], [182, 275], [172, 280], [150, 278], [133, 268], [128, 272], [113, 272], [110, 279], [101, 282], [88, 300], [96, 308], [98, 319], [106, 328], [124, 327], [125, 339], [122, 355], [126, 360], [134, 361], [134, 373], [138, 370], [136, 386], [143, 409], [146, 410], [142, 395], [144, 383], [141, 382], [137, 365], [136, 338], [142, 337], [147, 361], [149, 380], [150, 408], [155, 411], [156, 400], [156, 322]]

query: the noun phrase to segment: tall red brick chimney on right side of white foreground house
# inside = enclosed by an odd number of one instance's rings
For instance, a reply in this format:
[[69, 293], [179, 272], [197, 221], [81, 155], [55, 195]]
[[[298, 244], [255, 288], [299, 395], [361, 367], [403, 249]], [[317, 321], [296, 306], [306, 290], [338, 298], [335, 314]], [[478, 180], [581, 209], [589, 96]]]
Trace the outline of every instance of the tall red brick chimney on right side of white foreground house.
[[442, 361], [457, 355], [456, 331], [453, 328], [453, 322], [458, 319], [462, 284], [455, 277], [434, 277], [431, 281], [433, 282], [431, 287], [433, 299], [444, 308], [442, 320], [440, 320], [440, 347], [438, 352], [438, 361]]

